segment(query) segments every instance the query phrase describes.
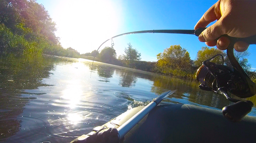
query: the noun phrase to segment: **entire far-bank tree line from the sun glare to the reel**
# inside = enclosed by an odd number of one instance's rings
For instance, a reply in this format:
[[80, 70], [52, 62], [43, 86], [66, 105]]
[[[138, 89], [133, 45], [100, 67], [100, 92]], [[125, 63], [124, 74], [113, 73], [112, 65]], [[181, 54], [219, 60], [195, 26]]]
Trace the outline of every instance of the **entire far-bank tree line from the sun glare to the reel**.
[[[202, 65], [202, 62], [210, 59], [211, 57], [221, 54], [223, 59], [218, 56], [211, 61], [216, 64], [222, 64], [230, 66], [230, 61], [225, 51], [202, 47], [197, 52], [196, 59], [190, 58], [190, 53], [187, 49], [182, 48], [180, 45], [171, 45], [169, 48], [164, 49], [162, 53], [156, 55], [157, 62], [140, 61], [141, 54], [132, 48], [132, 45], [128, 43], [128, 47], [125, 48], [125, 54], [117, 57], [116, 50], [113, 47], [105, 47], [100, 52], [94, 50], [91, 53], [81, 54], [85, 59], [94, 60], [114, 64], [118, 66], [138, 69], [146, 72], [155, 72], [165, 74], [169, 76], [175, 76], [183, 79], [195, 79], [196, 70]], [[242, 66], [242, 68], [248, 73], [248, 75], [256, 81], [256, 72], [252, 72], [251, 64], [248, 63], [247, 57], [250, 55], [248, 51], [236, 52], [234, 56]], [[224, 60], [224, 61], [223, 61]]]

